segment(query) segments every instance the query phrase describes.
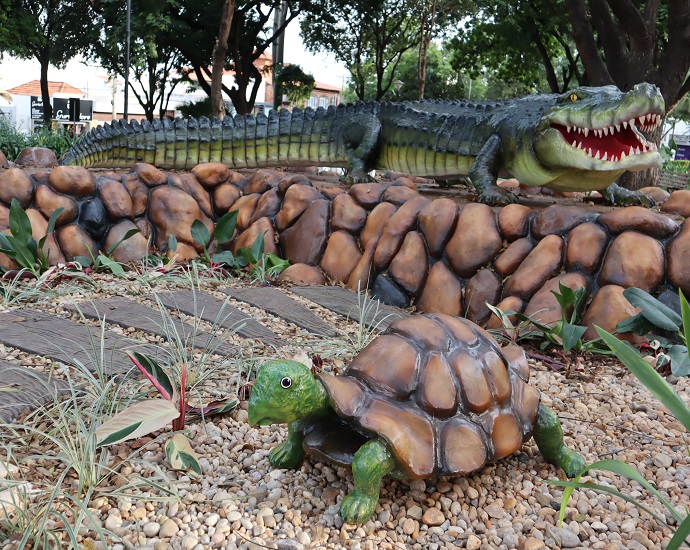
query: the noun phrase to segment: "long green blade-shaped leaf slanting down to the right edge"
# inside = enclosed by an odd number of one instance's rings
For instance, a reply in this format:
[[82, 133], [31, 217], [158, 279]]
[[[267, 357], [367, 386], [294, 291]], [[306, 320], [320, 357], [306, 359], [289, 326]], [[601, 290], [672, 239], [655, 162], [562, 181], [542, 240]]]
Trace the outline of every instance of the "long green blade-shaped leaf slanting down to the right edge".
[[642, 359], [639, 353], [632, 347], [624, 344], [618, 338], [609, 334], [600, 327], [595, 327], [599, 336], [611, 350], [616, 354], [616, 357], [632, 372], [642, 384], [652, 392], [659, 401], [669, 410], [676, 419], [685, 426], [686, 430], [690, 430], [690, 409], [678, 397], [673, 388], [669, 385], [662, 376], [652, 368], [647, 361]]

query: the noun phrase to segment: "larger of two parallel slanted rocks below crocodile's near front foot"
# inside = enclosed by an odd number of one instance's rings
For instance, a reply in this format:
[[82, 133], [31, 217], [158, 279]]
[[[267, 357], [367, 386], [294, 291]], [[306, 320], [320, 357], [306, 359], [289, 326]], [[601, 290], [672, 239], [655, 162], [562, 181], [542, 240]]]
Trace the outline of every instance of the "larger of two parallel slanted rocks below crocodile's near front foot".
[[565, 242], [558, 235], [544, 237], [506, 281], [504, 296], [529, 299], [563, 266]]

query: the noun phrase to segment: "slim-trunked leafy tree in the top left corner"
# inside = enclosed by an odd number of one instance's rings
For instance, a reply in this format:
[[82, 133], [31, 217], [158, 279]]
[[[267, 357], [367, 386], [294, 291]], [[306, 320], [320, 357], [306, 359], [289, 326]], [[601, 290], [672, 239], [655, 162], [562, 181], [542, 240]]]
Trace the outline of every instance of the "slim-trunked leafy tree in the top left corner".
[[53, 110], [48, 90], [48, 68], [63, 67], [87, 50], [98, 32], [88, 17], [86, 0], [3, 0], [0, 2], [0, 51], [35, 58], [41, 65], [43, 120], [50, 124]]

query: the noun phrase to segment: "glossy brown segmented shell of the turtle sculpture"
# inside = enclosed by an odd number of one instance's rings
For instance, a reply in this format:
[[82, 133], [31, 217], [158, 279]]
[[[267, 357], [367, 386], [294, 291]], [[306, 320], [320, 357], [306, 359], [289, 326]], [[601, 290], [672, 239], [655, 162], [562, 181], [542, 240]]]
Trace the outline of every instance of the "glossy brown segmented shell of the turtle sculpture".
[[384, 438], [415, 478], [468, 473], [517, 451], [539, 406], [522, 348], [501, 349], [471, 321], [443, 314], [396, 321], [344, 374], [319, 377], [341, 419]]

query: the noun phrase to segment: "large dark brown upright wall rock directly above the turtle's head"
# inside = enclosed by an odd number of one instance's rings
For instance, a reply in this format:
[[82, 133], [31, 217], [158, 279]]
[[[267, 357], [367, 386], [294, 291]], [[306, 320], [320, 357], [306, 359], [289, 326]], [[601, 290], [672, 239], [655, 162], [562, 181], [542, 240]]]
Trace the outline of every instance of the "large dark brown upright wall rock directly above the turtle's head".
[[[288, 189], [286, 198], [295, 187], [293, 185]], [[285, 258], [292, 263], [318, 265], [328, 235], [329, 204], [325, 199], [312, 202], [299, 219], [280, 234], [280, 246]]]

